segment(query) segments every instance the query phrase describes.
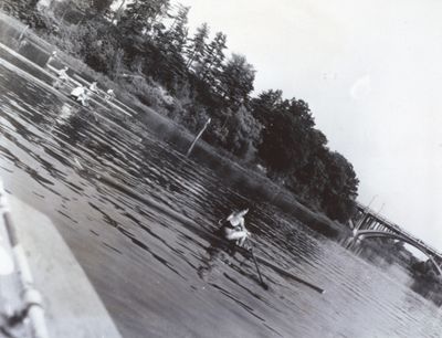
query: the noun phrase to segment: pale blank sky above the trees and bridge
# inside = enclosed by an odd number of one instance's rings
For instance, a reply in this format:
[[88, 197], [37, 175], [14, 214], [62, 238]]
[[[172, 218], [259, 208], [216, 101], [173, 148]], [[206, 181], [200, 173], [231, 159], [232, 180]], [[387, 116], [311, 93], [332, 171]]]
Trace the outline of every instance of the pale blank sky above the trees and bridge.
[[255, 94], [308, 103], [361, 203], [442, 252], [442, 1], [179, 2], [254, 65]]

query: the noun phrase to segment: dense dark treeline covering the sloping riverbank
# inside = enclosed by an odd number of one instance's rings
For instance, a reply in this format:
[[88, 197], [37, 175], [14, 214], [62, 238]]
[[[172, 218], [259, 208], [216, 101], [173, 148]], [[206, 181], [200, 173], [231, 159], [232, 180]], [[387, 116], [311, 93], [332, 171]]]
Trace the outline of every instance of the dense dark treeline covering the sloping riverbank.
[[190, 130], [211, 117], [208, 142], [265, 168], [332, 219], [350, 216], [358, 179], [327, 148], [307, 103], [272, 89], [252, 97], [253, 65], [244, 55], [229, 55], [227, 35], [211, 34], [207, 23], [189, 34], [189, 8], [137, 0], [110, 11], [112, 0], [78, 0], [36, 10], [36, 2], [9, 0], [3, 9]]

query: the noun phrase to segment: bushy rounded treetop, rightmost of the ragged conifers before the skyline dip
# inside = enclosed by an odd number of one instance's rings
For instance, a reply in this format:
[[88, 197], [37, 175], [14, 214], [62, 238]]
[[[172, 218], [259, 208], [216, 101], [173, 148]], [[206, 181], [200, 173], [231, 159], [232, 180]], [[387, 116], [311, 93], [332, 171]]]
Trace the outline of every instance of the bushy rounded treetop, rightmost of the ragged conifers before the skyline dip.
[[222, 96], [236, 106], [246, 103], [249, 94], [253, 91], [255, 73], [245, 56], [232, 54], [219, 76]]

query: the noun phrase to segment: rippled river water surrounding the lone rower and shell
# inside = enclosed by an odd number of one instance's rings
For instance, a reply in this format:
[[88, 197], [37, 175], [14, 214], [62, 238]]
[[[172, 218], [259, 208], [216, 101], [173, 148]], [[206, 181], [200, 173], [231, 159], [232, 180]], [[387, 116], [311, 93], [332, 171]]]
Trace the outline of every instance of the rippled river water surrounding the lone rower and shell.
[[[8, 191], [51, 216], [124, 337], [442, 337], [441, 310], [398, 277], [246, 189], [229, 189], [228, 178], [151, 135], [102, 117], [112, 112], [81, 108], [4, 63], [0, 93]], [[326, 294], [261, 266], [264, 291], [252, 262], [211, 247], [206, 231], [243, 205], [255, 252]]]

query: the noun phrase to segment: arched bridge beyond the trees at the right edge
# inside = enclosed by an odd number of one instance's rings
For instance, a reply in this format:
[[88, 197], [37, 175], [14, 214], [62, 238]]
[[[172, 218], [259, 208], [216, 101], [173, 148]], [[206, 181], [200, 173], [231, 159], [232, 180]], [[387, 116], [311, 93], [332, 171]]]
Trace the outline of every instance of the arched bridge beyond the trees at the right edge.
[[379, 213], [368, 207], [357, 203], [357, 212], [349, 220], [352, 230], [352, 239], [349, 245], [356, 241], [368, 237], [391, 239], [394, 241], [407, 243], [420, 252], [422, 252], [433, 263], [439, 275], [442, 276], [442, 254], [420, 239], [410, 234], [399, 225], [390, 222]]

